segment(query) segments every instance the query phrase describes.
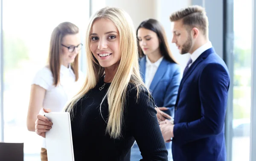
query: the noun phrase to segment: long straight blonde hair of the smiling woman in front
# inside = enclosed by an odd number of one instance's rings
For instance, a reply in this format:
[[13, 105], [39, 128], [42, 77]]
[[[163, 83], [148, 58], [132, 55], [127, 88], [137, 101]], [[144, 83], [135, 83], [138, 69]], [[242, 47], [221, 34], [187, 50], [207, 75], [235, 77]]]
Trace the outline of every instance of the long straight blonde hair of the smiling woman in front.
[[106, 133], [109, 133], [111, 138], [119, 138], [121, 136], [128, 84], [132, 83], [137, 88], [137, 100], [140, 90], [142, 90], [142, 87], [145, 87], [139, 72], [136, 32], [131, 17], [125, 11], [119, 8], [105, 7], [97, 11], [90, 18], [86, 34], [87, 43], [85, 45], [87, 53], [87, 75], [83, 88], [73, 97], [65, 110], [72, 113], [71, 116], [74, 116], [73, 109], [76, 103], [84, 94], [94, 88], [99, 82], [100, 77], [104, 75], [105, 69], [99, 65], [99, 62], [90, 51], [90, 32], [92, 25], [96, 20], [102, 18], [108, 19], [116, 25], [120, 37], [119, 52], [121, 59], [113, 81], [103, 98], [103, 100], [108, 99], [109, 115]]

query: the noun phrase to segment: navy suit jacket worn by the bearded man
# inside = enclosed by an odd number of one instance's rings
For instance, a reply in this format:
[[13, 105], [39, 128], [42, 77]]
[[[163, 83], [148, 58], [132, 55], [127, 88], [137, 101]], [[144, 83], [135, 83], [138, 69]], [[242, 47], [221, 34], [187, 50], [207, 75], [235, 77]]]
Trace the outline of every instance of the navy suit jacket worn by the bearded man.
[[175, 104], [173, 161], [226, 161], [224, 121], [230, 76], [213, 48], [180, 82]]

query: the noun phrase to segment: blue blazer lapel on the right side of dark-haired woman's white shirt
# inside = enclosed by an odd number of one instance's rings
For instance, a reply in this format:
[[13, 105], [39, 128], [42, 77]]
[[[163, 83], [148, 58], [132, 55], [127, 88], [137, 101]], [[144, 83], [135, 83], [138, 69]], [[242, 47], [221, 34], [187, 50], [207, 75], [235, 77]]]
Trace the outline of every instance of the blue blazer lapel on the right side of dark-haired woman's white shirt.
[[159, 67], [157, 68], [157, 72], [155, 73], [154, 78], [151, 82], [151, 85], [149, 87], [150, 90], [154, 91], [158, 82], [162, 79], [163, 75], [165, 74], [167, 65], [168, 65], [168, 61], [166, 59], [163, 59]]

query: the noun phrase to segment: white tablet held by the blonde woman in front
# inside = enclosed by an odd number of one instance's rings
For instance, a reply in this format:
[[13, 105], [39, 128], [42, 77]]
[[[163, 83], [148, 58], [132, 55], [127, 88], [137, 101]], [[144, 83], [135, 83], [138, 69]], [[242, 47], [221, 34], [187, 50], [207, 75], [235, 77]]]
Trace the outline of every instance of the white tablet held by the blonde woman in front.
[[51, 112], [44, 116], [52, 122], [52, 129], [45, 133], [48, 161], [75, 161], [70, 114]]

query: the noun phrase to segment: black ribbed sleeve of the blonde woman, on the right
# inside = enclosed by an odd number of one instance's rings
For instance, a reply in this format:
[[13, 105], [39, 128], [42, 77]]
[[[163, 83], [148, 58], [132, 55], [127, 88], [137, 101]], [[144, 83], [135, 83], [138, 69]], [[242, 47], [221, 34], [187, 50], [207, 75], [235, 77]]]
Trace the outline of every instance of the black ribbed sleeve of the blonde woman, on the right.
[[143, 89], [137, 100], [137, 89], [129, 91], [131, 131], [140, 148], [141, 161], [168, 161], [168, 151], [157, 121], [154, 100]]

